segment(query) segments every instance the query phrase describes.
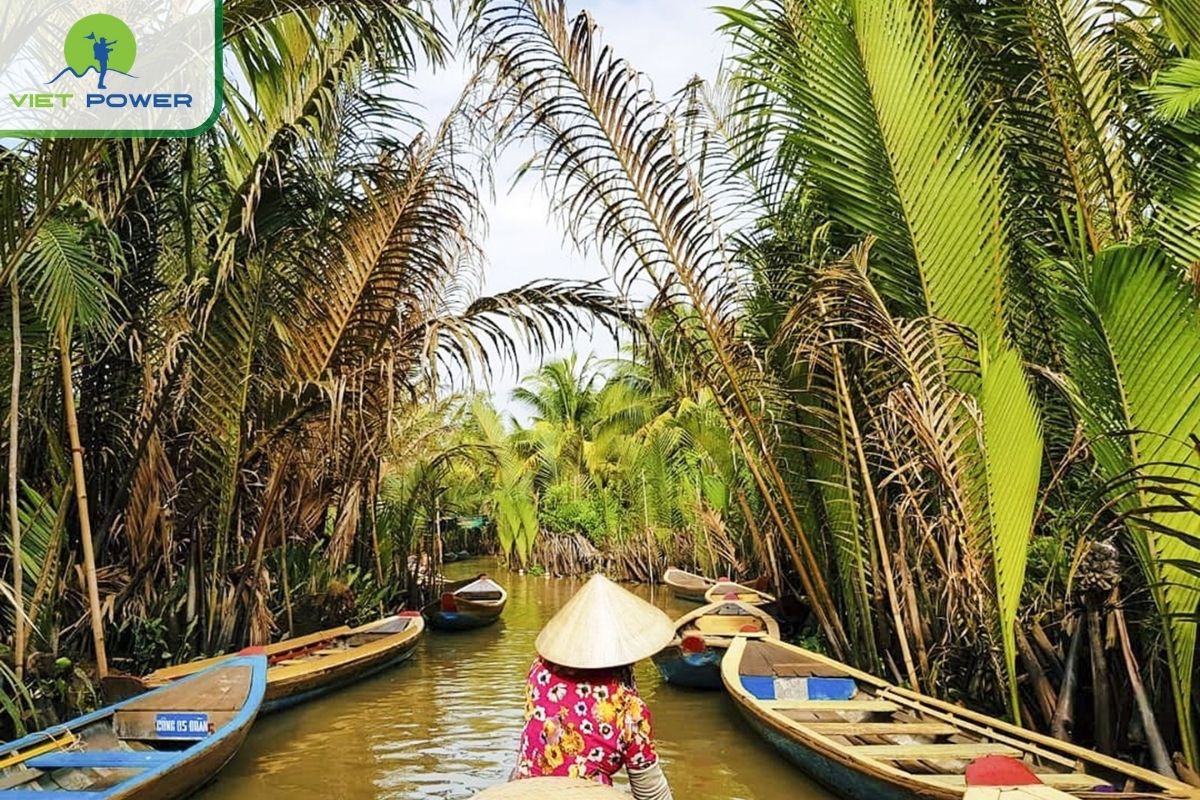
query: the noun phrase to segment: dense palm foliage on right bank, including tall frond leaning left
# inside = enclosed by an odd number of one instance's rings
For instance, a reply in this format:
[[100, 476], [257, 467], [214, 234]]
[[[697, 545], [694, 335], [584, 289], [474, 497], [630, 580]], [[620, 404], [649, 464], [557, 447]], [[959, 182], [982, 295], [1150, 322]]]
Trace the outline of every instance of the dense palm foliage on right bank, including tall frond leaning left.
[[1194, 762], [1195, 4], [721, 14], [662, 103], [587, 14], [485, 4], [500, 134], [652, 288], [835, 655]]

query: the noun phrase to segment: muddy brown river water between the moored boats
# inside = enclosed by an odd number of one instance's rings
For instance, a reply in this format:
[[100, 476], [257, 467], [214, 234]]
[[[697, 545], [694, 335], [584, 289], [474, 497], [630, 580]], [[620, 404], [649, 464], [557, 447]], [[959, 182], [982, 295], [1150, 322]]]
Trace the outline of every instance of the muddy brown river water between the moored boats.
[[[504, 781], [534, 639], [582, 584], [486, 561], [446, 567], [451, 578], [491, 570], [505, 585], [509, 604], [497, 625], [427, 631], [404, 664], [260, 720], [200, 800], [463, 800]], [[634, 590], [672, 616], [695, 608], [661, 588]], [[676, 800], [832, 800], [762, 742], [724, 692], [667, 686], [648, 661], [637, 681]]]

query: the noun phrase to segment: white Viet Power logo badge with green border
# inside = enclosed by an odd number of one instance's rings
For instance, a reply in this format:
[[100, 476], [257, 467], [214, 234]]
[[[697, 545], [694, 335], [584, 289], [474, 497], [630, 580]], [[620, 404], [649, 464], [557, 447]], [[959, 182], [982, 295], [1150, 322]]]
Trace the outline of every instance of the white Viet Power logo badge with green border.
[[196, 136], [216, 121], [220, 0], [26, 0], [8, 13], [0, 136]]

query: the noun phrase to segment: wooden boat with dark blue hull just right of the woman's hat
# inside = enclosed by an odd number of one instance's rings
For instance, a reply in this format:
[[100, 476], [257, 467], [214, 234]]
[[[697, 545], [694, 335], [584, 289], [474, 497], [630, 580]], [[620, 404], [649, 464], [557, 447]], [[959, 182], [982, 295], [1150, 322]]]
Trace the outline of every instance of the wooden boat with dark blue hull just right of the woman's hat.
[[676, 638], [654, 656], [654, 666], [668, 684], [721, 688], [721, 658], [737, 636], [779, 638], [779, 622], [734, 600], [697, 608], [676, 620]]

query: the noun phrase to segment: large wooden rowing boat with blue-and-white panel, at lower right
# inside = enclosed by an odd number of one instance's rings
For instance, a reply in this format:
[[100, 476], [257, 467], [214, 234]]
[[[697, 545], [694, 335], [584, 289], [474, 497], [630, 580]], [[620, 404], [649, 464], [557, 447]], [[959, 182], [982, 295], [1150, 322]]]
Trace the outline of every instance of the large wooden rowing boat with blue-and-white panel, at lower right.
[[966, 800], [967, 768], [1026, 764], [1068, 798], [1200, 798], [1174, 778], [919, 694], [770, 638], [738, 638], [721, 664], [750, 726], [851, 800]]

